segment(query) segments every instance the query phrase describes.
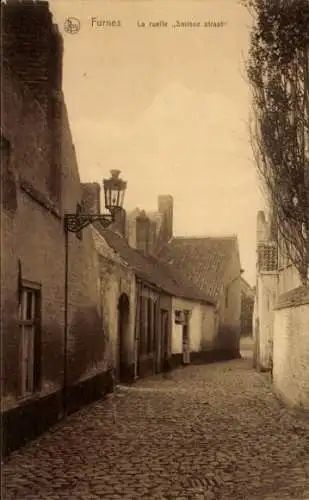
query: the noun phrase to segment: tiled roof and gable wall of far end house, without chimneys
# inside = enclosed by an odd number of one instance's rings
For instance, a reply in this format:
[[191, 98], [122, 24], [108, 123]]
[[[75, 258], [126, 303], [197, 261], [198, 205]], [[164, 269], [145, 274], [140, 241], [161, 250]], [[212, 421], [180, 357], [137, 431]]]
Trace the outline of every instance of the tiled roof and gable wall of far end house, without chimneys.
[[181, 272], [215, 306], [215, 339], [203, 348], [209, 359], [239, 357], [241, 274], [236, 236], [172, 237], [158, 257]]

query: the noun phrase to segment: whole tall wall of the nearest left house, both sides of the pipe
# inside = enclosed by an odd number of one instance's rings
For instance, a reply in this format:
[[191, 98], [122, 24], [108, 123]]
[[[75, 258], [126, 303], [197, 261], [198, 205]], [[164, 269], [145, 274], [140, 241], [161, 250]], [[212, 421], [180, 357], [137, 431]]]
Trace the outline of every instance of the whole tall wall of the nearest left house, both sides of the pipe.
[[[56, 63], [54, 73], [47, 71], [47, 67], [44, 69], [43, 64], [44, 61], [47, 66], [49, 64], [46, 52], [49, 42], [44, 37], [54, 32], [48, 6], [45, 2], [18, 5], [10, 10], [14, 22], [6, 25], [10, 26], [11, 38], [4, 51], [6, 61], [1, 88], [3, 135], [10, 144], [6, 166], [10, 168], [9, 187], [13, 187], [15, 193], [11, 205], [3, 203], [3, 197], [1, 199], [2, 241], [6, 248], [1, 275], [4, 408], [24, 403], [19, 400], [19, 275], [38, 283], [42, 289], [39, 396], [56, 392], [62, 386], [65, 276], [62, 215], [74, 212], [82, 199], [75, 148], [61, 91], [56, 93], [57, 113], [53, 115], [53, 128], [50, 128], [47, 90], [50, 82], [54, 89], [57, 88], [59, 74]], [[29, 19], [33, 22], [31, 30], [27, 24]], [[41, 29], [41, 22], [44, 29]], [[17, 43], [20, 43], [19, 54], [13, 50]], [[50, 47], [54, 47], [53, 43], [50, 38]], [[35, 50], [30, 51], [30, 47]], [[55, 140], [61, 168], [58, 186], [51, 185], [51, 178], [55, 176], [55, 157], [51, 155]], [[6, 183], [3, 190], [7, 189]], [[74, 234], [69, 235], [68, 277], [68, 377], [70, 384], [75, 384], [91, 376], [104, 357], [99, 268], [90, 228], [84, 230], [82, 240]]]

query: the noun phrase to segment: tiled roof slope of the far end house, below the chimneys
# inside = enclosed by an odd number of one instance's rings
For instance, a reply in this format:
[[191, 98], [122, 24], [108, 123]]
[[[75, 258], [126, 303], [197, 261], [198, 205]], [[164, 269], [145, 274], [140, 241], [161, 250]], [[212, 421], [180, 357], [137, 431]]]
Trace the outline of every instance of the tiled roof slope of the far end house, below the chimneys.
[[235, 250], [238, 252], [237, 236], [174, 237], [160, 249], [158, 257], [217, 301], [226, 265]]

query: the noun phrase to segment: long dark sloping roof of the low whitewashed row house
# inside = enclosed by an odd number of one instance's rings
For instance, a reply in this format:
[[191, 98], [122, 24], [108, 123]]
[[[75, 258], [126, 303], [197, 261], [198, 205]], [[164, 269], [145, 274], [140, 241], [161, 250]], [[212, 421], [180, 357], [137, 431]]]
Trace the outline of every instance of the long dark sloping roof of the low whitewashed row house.
[[103, 229], [99, 224], [95, 225], [95, 227], [102, 234], [107, 244], [127, 262], [139, 278], [157, 286], [169, 295], [214, 305], [214, 301], [210, 297], [195, 287], [194, 284], [188, 282], [167, 262], [162, 262], [154, 256], [144, 255], [135, 250], [129, 246], [122, 236], [109, 229]]

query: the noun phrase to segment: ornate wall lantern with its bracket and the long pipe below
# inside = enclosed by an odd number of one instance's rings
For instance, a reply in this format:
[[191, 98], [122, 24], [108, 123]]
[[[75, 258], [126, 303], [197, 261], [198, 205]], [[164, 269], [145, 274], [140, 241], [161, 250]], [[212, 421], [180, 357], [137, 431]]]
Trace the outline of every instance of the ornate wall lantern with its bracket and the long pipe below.
[[64, 276], [64, 363], [63, 363], [63, 416], [67, 413], [67, 390], [68, 390], [68, 369], [67, 369], [67, 346], [68, 346], [68, 283], [69, 283], [69, 233], [80, 233], [90, 224], [100, 222], [107, 228], [115, 221], [118, 210], [122, 209], [124, 194], [127, 188], [126, 181], [120, 177], [120, 170], [111, 170], [111, 177], [103, 180], [105, 208], [109, 213], [105, 214], [85, 214], [78, 206], [74, 214], [64, 215], [65, 233], [65, 276]]

